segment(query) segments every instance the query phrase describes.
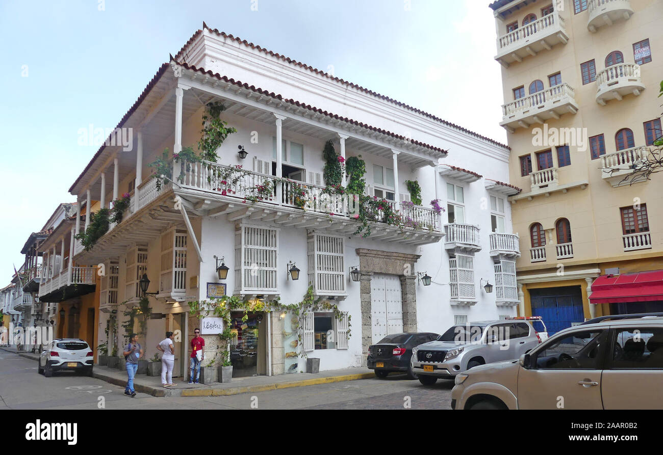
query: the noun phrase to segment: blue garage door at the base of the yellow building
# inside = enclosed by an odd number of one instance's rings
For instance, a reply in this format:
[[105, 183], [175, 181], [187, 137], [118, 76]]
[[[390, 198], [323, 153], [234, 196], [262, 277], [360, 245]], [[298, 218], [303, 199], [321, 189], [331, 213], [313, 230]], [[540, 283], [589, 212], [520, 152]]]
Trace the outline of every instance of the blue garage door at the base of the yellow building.
[[548, 335], [585, 320], [580, 286], [530, 289], [532, 316], [542, 317]]

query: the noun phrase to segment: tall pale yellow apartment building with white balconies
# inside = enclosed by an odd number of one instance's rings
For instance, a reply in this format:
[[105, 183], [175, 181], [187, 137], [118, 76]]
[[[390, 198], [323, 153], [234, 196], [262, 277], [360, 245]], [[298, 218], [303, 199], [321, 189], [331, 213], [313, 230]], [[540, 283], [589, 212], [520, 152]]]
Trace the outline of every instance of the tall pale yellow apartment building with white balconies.
[[520, 314], [556, 332], [595, 315], [663, 311], [660, 274], [636, 275], [663, 269], [663, 174], [631, 184], [631, 164], [662, 135], [663, 2], [490, 7], [511, 183], [522, 189], [510, 198]]

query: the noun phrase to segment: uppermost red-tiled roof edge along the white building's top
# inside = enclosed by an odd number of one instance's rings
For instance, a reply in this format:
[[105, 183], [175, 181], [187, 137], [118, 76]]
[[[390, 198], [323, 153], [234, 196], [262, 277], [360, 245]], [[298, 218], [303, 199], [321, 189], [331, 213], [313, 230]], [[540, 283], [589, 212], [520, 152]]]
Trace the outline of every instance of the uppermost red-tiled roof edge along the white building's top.
[[[511, 1], [511, 0], [509, 0], [509, 1]], [[380, 93], [377, 93], [375, 91], [372, 91], [372, 90], [366, 89], [364, 87], [361, 87], [361, 85], [357, 85], [355, 83], [345, 81], [344, 79], [340, 79], [339, 77], [331, 76], [330, 74], [328, 74], [324, 71], [318, 70], [318, 68], [314, 68], [310, 65], [304, 64], [302, 62], [298, 62], [297, 60], [293, 60], [292, 58], [282, 56], [280, 54], [277, 54], [276, 52], [272, 52], [271, 50], [265, 49], [262, 46], [258, 46], [257, 44], [253, 44], [252, 42], [248, 42], [247, 40], [242, 40], [241, 38], [238, 38], [237, 36], [233, 36], [231, 34], [225, 34], [224, 32], [219, 31], [217, 28], [210, 28], [204, 22], [203, 22], [203, 28], [206, 28], [210, 32], [213, 32], [213, 33], [215, 33], [219, 36], [223, 36], [223, 38], [228, 38], [230, 40], [235, 40], [235, 41], [237, 41], [241, 44], [244, 44], [247, 47], [250, 47], [251, 49], [257, 49], [259, 52], [264, 52], [265, 54], [267, 54], [271, 57], [278, 58], [278, 59], [280, 59], [284, 62], [288, 62], [290, 64], [294, 64], [296, 66], [299, 66], [300, 68], [304, 68], [305, 70], [309, 70], [310, 72], [314, 72], [315, 74], [318, 74], [319, 76], [326, 77], [326, 78], [331, 79], [331, 80], [333, 80], [337, 83], [341, 83], [341, 84], [346, 85], [348, 87], [352, 87], [353, 89], [357, 89], [359, 91], [363, 91], [364, 93], [368, 93], [369, 95], [372, 95], [372, 96], [377, 97], [379, 99], [383, 99], [384, 101], [387, 101], [389, 103], [397, 105], [398, 107], [400, 107], [402, 109], [407, 109], [408, 111], [412, 111], [412, 112], [417, 113], [419, 115], [422, 115], [424, 117], [428, 117], [429, 119], [432, 119], [436, 122], [442, 123], [443, 125], [450, 126], [451, 128], [454, 128], [456, 130], [464, 132], [465, 134], [469, 134], [470, 136], [474, 136], [475, 138], [479, 138], [481, 140], [485, 140], [487, 142], [490, 142], [491, 144], [495, 144], [497, 146], [506, 148], [507, 150], [511, 150], [511, 148], [508, 145], [502, 144], [501, 142], [497, 142], [497, 140], [493, 140], [493, 139], [488, 138], [486, 136], [482, 136], [481, 134], [479, 134], [477, 132], [468, 130], [467, 128], [463, 128], [462, 126], [459, 126], [459, 125], [455, 125], [454, 123], [448, 122], [444, 119], [440, 119], [440, 117], [436, 117], [435, 115], [429, 114], [425, 111], [422, 111], [421, 109], [416, 109], [415, 107], [412, 107], [410, 105], [406, 105], [405, 103], [401, 103], [400, 101], [396, 101], [395, 99], [392, 99], [392, 98], [387, 97], [385, 95], [381, 95]], [[175, 56], [176, 61], [178, 61], [178, 62], [184, 61], [184, 60], [181, 60], [183, 54], [186, 52], [186, 50], [188, 50], [188, 47], [192, 44], [192, 42], [194, 42], [194, 40], [196, 40], [196, 38], [198, 38], [198, 36], [201, 33], [202, 33], [202, 30], [197, 30], [196, 33], [194, 33], [194, 35], [191, 38], [189, 38], [189, 40], [186, 42], [186, 44], [184, 44], [184, 46], [182, 46], [182, 49], [180, 49], [180, 52], [178, 52], [177, 55]]]

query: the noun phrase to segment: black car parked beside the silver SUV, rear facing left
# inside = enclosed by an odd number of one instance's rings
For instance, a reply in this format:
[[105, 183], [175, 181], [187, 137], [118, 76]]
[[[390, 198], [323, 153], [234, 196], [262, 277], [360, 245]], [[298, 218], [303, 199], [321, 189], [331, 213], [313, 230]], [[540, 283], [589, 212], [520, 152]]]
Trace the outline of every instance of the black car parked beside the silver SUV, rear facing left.
[[412, 348], [430, 340], [436, 340], [438, 334], [432, 332], [395, 333], [385, 336], [377, 344], [369, 346], [367, 366], [375, 370], [375, 376], [386, 378], [391, 372], [406, 372], [408, 378], [416, 379], [410, 368]]

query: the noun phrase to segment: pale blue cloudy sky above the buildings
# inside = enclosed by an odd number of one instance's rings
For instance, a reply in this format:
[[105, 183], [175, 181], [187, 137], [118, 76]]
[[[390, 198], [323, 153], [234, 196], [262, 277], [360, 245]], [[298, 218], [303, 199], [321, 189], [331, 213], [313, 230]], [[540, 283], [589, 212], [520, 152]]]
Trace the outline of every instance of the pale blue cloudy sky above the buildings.
[[114, 128], [203, 21], [506, 143], [489, 3], [0, 0], [0, 287], [30, 232], [75, 201], [97, 151], [79, 128]]

